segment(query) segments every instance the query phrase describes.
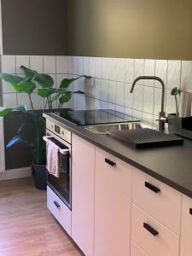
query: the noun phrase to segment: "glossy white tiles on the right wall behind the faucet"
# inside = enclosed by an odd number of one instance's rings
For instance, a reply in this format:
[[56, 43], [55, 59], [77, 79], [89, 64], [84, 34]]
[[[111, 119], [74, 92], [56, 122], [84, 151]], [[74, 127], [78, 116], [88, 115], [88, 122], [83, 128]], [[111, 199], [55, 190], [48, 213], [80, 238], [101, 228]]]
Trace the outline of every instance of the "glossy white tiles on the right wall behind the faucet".
[[86, 97], [73, 97], [74, 109], [111, 108], [154, 123], [160, 112], [160, 84], [140, 80], [131, 94], [131, 83], [137, 76], [155, 75], [164, 80], [166, 113], [175, 113], [173, 87], [192, 92], [192, 61], [69, 56], [68, 76], [80, 74], [94, 79], [75, 82], [74, 88], [84, 89]]

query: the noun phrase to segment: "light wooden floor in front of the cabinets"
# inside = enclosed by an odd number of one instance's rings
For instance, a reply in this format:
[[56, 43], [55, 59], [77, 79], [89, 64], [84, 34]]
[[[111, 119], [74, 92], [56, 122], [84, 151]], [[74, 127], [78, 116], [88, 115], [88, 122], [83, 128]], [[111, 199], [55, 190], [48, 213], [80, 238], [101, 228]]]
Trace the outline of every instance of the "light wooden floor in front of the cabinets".
[[0, 256], [79, 256], [31, 177], [0, 182]]

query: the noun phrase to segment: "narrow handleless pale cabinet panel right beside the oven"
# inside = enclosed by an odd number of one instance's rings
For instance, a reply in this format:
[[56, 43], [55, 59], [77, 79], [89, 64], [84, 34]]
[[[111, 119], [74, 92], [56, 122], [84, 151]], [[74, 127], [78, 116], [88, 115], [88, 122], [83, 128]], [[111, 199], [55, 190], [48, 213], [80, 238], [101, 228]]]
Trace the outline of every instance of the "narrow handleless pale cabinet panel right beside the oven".
[[72, 137], [72, 238], [86, 256], [94, 247], [95, 146]]

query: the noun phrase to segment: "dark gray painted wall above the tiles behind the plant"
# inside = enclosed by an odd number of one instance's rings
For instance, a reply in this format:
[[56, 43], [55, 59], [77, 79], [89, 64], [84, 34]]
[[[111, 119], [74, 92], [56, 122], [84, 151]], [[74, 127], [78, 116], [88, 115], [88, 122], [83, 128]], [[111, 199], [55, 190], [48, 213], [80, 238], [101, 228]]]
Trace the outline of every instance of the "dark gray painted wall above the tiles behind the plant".
[[2, 0], [4, 55], [67, 55], [66, 0]]

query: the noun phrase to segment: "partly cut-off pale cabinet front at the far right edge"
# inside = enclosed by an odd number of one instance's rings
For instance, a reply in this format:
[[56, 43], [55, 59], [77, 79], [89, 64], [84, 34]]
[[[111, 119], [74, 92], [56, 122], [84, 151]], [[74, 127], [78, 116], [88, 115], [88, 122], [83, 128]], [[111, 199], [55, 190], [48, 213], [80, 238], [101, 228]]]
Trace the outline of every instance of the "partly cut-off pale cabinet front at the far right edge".
[[192, 198], [183, 195], [180, 256], [192, 255]]

